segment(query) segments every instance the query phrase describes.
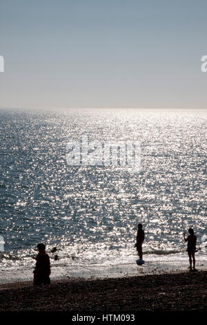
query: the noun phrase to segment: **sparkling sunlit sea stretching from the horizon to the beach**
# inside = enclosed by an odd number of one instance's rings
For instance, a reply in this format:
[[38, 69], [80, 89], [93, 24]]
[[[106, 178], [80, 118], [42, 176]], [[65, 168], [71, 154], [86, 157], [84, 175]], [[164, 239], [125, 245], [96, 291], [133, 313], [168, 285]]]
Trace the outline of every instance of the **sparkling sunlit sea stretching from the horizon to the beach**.
[[[57, 246], [51, 277], [186, 269], [183, 232], [206, 263], [206, 117], [201, 110], [0, 111], [0, 281], [32, 279], [37, 243]], [[69, 141], [141, 141], [141, 169], [69, 166]], [[137, 223], [146, 234], [135, 263]]]

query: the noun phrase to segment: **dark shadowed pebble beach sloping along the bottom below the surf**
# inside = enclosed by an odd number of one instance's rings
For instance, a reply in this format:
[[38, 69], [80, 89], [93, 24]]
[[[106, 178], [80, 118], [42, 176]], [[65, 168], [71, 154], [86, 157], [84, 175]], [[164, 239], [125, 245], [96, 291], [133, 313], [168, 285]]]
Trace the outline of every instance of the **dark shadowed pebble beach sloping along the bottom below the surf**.
[[1, 312], [205, 311], [207, 271], [119, 279], [1, 284]]

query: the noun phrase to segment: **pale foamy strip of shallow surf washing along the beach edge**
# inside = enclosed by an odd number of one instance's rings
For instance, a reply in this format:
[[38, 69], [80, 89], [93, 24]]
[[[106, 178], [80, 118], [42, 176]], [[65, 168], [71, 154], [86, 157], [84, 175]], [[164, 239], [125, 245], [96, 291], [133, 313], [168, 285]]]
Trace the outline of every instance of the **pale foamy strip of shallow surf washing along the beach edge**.
[[[125, 259], [111, 259], [107, 263], [89, 263], [79, 259], [71, 260], [60, 257], [58, 261], [50, 258], [51, 276], [53, 280], [68, 279], [108, 279], [145, 275], [164, 275], [177, 272], [188, 272], [187, 254], [144, 255], [145, 263], [137, 266], [137, 255]], [[17, 261], [12, 267], [3, 266], [0, 270], [0, 286], [2, 284], [32, 281], [34, 265], [31, 261], [21, 265]], [[206, 254], [197, 254], [196, 268], [198, 271], [207, 270]]]

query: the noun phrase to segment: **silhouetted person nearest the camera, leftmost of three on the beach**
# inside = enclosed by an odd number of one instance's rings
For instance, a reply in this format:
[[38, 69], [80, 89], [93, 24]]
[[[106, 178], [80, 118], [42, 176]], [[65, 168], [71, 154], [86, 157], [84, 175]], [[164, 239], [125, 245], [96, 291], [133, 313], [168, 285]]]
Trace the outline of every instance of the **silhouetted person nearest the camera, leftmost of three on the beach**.
[[37, 245], [38, 254], [37, 257], [33, 257], [36, 262], [34, 268], [34, 286], [40, 286], [41, 284], [50, 284], [50, 257], [46, 253], [46, 246], [43, 243]]

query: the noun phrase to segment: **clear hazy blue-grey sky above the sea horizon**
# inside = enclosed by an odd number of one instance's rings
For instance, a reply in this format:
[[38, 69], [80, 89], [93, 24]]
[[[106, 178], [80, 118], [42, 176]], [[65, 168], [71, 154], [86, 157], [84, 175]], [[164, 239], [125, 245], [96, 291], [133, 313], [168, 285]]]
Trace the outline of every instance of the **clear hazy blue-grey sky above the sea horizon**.
[[0, 0], [0, 107], [207, 108], [206, 31], [206, 0]]

